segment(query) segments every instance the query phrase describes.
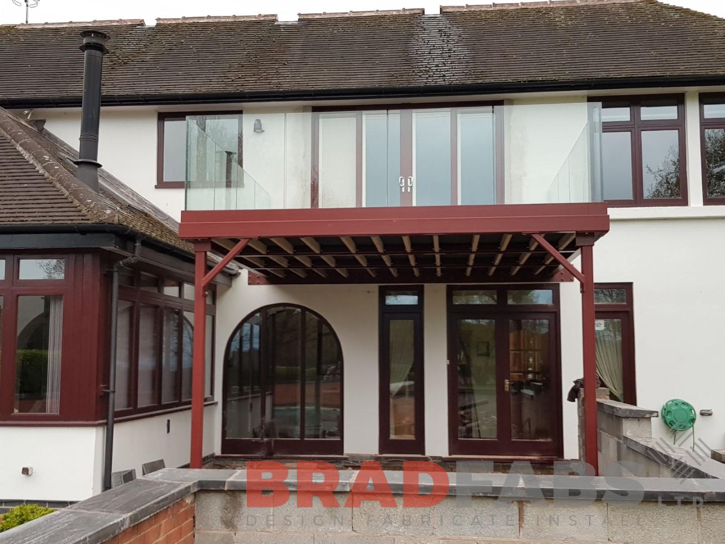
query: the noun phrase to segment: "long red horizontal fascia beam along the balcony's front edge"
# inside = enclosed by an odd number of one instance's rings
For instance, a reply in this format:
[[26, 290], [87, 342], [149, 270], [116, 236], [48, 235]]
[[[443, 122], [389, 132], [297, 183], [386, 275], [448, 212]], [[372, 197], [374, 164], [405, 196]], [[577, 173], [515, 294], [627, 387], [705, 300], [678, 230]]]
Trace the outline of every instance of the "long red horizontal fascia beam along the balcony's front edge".
[[607, 205], [507, 204], [181, 213], [185, 239], [609, 231]]

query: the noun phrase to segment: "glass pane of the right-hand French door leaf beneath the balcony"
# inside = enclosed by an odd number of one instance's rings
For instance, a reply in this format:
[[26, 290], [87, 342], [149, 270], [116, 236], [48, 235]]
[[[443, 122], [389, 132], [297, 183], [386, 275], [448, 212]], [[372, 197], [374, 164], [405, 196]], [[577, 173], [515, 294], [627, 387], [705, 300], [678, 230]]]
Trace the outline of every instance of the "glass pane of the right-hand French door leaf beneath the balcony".
[[552, 440], [555, 406], [547, 319], [510, 319], [512, 440]]

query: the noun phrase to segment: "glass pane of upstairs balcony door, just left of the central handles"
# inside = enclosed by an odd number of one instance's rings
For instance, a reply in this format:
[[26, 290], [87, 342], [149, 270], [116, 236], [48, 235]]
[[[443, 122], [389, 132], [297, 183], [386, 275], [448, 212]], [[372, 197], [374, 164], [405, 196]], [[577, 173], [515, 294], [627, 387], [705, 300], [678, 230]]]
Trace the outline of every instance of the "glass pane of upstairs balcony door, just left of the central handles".
[[400, 205], [400, 114], [365, 113], [365, 206]]

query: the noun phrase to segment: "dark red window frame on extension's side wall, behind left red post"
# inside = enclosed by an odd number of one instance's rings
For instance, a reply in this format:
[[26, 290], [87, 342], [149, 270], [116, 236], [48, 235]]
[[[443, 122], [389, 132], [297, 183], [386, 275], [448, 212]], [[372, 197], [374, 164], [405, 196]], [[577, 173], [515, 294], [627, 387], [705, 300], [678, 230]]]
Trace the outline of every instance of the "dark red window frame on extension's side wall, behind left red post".
[[[181, 374], [183, 364], [183, 321], [184, 312], [194, 312], [194, 301], [184, 299], [183, 297], [173, 297], [162, 293], [163, 281], [172, 279], [177, 281], [175, 278], [170, 277], [158, 277], [157, 276], [157, 291], [152, 292], [146, 289], [141, 289], [139, 284], [139, 278], [143, 273], [140, 270], [133, 271], [133, 286], [121, 285], [118, 288], [118, 300], [125, 300], [133, 304], [131, 319], [130, 319], [130, 360], [129, 360], [129, 376], [128, 376], [128, 395], [129, 395], [129, 407], [128, 408], [117, 408], [116, 416], [119, 418], [125, 418], [125, 416], [136, 416], [141, 414], [156, 413], [158, 411], [165, 411], [167, 409], [184, 408], [191, 405], [191, 398], [184, 400], [183, 391], [181, 386]], [[178, 280], [180, 284], [181, 294], [183, 296], [183, 281]], [[214, 301], [213, 292], [210, 292], [208, 300]], [[154, 314], [154, 328], [157, 331], [157, 349], [154, 354], [156, 360], [156, 370], [154, 379], [154, 395], [156, 397], [156, 403], [150, 405], [138, 406], [138, 320], [140, 315], [141, 305], [151, 305], [155, 308]], [[178, 371], [177, 371], [177, 384], [176, 384], [176, 399], [171, 402], [163, 402], [163, 384], [162, 384], [162, 355], [163, 355], [163, 325], [164, 325], [164, 313], [166, 310], [173, 310], [178, 315]], [[216, 308], [213, 304], [207, 304], [207, 316], [216, 316]], [[205, 402], [214, 400], [214, 379], [215, 379], [215, 350], [213, 348], [215, 342], [215, 326], [212, 326], [211, 330], [207, 330], [207, 334], [211, 335], [212, 341], [212, 360], [210, 364], [211, 368], [211, 390], [212, 395], [206, 395], [204, 397]], [[206, 391], [205, 391], [206, 393]], [[117, 391], [118, 395], [118, 391]]]

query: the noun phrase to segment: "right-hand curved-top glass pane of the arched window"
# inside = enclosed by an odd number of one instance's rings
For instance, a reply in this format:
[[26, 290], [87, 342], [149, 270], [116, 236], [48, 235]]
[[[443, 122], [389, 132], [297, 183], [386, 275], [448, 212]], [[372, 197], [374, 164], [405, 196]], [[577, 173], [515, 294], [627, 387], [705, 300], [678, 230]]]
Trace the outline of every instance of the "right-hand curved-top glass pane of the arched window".
[[339, 438], [341, 353], [330, 328], [305, 313], [305, 438]]

